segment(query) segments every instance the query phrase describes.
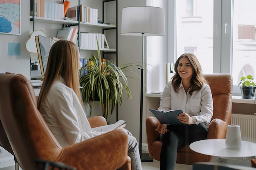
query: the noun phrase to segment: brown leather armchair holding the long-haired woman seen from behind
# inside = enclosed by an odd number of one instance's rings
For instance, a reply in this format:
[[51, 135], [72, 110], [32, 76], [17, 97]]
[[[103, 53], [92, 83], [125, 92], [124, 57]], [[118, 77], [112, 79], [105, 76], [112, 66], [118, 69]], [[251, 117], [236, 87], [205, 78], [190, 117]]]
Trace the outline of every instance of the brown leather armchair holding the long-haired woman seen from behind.
[[[5, 136], [23, 170], [35, 170], [34, 159], [65, 163], [76, 170], [130, 170], [128, 134], [117, 129], [62, 148], [37, 109], [30, 82], [22, 75], [0, 74], [0, 120]], [[103, 117], [89, 118], [92, 127], [106, 125]]]

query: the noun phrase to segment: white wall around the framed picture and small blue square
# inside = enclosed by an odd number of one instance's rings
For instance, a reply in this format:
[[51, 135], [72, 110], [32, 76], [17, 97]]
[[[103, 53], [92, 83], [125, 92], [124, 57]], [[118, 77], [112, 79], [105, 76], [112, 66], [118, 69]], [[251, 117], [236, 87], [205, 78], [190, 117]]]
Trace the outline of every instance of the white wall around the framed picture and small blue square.
[[[0, 34], [0, 73], [21, 73], [30, 79], [30, 55], [25, 49], [25, 42], [29, 38], [29, 0], [22, 0], [21, 35]], [[8, 43], [20, 43], [20, 55], [8, 55]]]

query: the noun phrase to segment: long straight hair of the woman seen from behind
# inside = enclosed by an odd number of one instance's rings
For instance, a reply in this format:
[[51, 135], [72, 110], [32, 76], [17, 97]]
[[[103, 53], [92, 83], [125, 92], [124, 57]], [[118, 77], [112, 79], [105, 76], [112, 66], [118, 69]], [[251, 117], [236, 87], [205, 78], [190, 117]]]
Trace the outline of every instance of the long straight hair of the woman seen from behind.
[[50, 50], [47, 68], [43, 85], [38, 97], [38, 110], [45, 102], [49, 90], [61, 75], [65, 80], [65, 85], [72, 88], [82, 104], [81, 92], [79, 89], [79, 51], [76, 44], [67, 40], [55, 42]]

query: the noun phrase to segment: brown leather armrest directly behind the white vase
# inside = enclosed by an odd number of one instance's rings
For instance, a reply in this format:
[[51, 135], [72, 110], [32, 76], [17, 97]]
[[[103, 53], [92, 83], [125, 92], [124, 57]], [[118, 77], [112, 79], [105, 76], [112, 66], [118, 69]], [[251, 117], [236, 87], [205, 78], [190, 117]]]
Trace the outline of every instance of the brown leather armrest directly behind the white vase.
[[225, 139], [227, 124], [221, 119], [213, 119], [209, 125], [207, 139]]

